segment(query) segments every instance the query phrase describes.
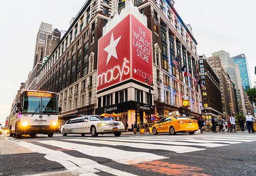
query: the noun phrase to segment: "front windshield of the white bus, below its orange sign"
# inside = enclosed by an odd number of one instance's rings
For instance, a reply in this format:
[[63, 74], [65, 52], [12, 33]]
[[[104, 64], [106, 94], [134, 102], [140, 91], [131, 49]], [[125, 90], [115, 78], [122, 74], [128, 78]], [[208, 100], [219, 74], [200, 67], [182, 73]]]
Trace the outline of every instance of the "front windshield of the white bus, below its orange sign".
[[57, 99], [49, 97], [24, 97], [23, 113], [55, 114], [57, 113]]

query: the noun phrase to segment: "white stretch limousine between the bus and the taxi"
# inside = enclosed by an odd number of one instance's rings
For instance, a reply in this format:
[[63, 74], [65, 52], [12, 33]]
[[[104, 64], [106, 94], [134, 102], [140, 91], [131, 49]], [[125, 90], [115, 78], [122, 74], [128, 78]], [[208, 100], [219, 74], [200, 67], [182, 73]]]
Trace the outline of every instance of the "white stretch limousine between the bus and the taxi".
[[124, 124], [120, 121], [102, 120], [104, 116], [90, 115], [69, 119], [62, 127], [63, 136], [67, 134], [92, 134], [96, 137], [98, 134], [114, 133], [120, 136], [124, 131]]

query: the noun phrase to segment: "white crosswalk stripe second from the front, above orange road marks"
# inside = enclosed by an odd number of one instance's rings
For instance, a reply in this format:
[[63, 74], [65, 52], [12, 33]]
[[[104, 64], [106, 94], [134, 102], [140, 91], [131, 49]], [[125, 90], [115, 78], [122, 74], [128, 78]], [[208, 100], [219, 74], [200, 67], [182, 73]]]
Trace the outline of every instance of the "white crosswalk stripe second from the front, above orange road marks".
[[155, 154], [150, 154], [145, 152], [124, 151], [124, 150], [114, 149], [110, 147], [98, 147], [98, 146], [74, 144], [74, 143], [62, 142], [62, 141], [50, 140], [50, 141], [38, 141], [38, 142], [52, 145], [52, 146], [57, 146], [63, 149], [76, 150], [90, 156], [112, 159], [122, 164], [137, 164], [141, 162], [154, 161], [154, 160], [167, 158], [164, 156], [158, 156]]

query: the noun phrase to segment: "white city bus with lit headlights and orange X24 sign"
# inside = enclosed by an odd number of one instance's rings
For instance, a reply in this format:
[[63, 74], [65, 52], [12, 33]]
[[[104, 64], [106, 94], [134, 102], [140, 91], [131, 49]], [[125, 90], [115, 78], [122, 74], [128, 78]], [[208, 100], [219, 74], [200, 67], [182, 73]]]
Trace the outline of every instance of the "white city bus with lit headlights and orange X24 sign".
[[11, 112], [10, 136], [48, 134], [58, 130], [58, 94], [46, 91], [22, 90]]

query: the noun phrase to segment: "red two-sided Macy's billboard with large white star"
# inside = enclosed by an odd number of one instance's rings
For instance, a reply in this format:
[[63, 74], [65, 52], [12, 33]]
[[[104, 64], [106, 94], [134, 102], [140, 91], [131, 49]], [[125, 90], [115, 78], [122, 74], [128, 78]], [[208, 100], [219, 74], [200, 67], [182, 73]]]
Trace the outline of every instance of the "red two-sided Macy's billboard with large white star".
[[128, 79], [153, 81], [152, 35], [132, 13], [98, 42], [97, 91]]

